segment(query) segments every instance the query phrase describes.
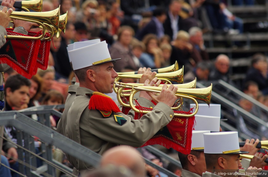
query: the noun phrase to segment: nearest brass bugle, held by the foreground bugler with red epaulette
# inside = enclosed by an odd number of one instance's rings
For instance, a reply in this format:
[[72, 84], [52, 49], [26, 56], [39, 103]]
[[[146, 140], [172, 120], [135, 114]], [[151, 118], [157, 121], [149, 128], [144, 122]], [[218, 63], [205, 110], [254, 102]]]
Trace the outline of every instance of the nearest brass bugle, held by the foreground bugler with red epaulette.
[[[140, 87], [134, 87], [134, 86], [126, 86], [121, 83], [115, 83], [115, 87], [123, 87], [123, 88], [130, 88], [132, 89], [132, 92], [129, 96], [129, 105], [132, 110], [135, 112], [140, 112], [139, 109], [133, 105], [133, 101], [135, 101], [134, 95], [138, 91], [148, 91], [148, 92], [154, 92], [154, 93], [160, 93], [162, 90], [162, 87], [152, 87], [152, 86], [140, 86]], [[120, 89], [121, 89], [120, 88]], [[177, 97], [182, 97], [182, 98], [188, 98], [192, 100], [196, 104], [196, 109], [192, 114], [179, 114], [179, 113], [174, 113], [175, 116], [181, 116], [181, 117], [192, 117], [193, 115], [197, 114], [198, 111], [198, 103], [197, 99], [205, 102], [206, 104], [209, 105], [210, 99], [211, 99], [211, 91], [212, 91], [212, 84], [209, 87], [206, 88], [195, 88], [195, 89], [187, 89], [187, 88], [178, 88], [176, 92]], [[119, 99], [120, 95], [117, 94], [117, 99]], [[150, 111], [143, 110], [143, 113], [149, 113]]]

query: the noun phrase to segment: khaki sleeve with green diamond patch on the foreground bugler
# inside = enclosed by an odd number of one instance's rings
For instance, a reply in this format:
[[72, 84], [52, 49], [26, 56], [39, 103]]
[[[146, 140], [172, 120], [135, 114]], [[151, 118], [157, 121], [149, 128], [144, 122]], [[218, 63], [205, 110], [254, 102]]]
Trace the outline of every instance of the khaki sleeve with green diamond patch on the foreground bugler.
[[104, 117], [98, 110], [86, 109], [80, 118], [80, 128], [111, 143], [140, 147], [173, 116], [173, 110], [162, 102], [139, 120], [134, 120], [131, 114], [119, 112]]

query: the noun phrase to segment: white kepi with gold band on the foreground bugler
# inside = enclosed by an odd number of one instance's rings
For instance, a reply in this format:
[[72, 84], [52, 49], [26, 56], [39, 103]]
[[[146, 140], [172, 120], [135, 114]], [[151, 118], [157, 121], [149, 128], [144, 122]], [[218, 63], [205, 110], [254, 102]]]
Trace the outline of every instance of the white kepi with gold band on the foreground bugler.
[[[85, 44], [87, 43], [88, 42], [86, 42]], [[84, 44], [78, 44], [78, 46], [83, 45]], [[95, 44], [91, 43], [91, 45], [87, 44], [85, 47], [81, 48], [74, 48], [73, 50], [70, 50], [68, 54], [70, 60], [72, 61], [74, 70], [89, 67], [96, 64], [119, 60], [111, 58], [106, 41], [96, 42]]]

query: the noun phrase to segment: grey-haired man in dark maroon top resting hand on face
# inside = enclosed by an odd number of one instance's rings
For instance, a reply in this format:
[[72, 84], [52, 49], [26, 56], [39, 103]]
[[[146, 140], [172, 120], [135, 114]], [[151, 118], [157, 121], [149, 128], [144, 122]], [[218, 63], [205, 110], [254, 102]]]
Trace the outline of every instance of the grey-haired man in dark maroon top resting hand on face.
[[209, 60], [209, 54], [206, 52], [204, 45], [203, 33], [199, 27], [192, 27], [189, 29], [190, 43], [193, 45], [193, 52], [191, 58], [196, 62]]

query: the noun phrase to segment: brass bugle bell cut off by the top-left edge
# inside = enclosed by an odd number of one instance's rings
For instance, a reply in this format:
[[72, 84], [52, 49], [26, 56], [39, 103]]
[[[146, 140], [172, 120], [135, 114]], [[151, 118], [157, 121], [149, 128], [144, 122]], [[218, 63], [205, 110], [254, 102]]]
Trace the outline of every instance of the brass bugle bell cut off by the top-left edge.
[[[1, 5], [2, 1], [0, 1]], [[42, 12], [42, 4], [43, 0], [28, 0], [28, 1], [15, 1], [14, 7], [23, 9], [27, 12], [30, 12], [30, 10], [35, 10], [36, 12]], [[30, 9], [30, 10], [29, 10]]]

